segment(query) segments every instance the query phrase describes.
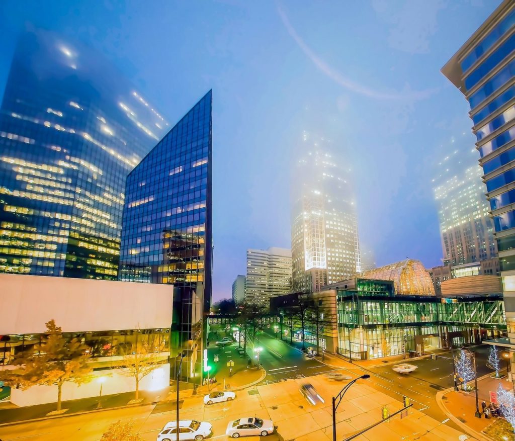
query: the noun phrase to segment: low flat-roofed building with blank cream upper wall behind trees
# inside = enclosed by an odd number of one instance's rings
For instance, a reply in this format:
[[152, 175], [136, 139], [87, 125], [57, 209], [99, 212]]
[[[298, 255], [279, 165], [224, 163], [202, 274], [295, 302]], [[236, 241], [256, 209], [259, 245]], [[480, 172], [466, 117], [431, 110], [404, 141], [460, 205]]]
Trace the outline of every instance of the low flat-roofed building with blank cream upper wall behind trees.
[[[169, 386], [173, 285], [0, 274], [0, 286], [0, 380], [2, 369], [13, 368], [18, 352], [40, 344], [45, 324], [55, 320], [65, 338], [77, 338], [89, 347], [93, 375], [106, 377], [104, 395], [135, 390], [134, 378], [121, 373], [123, 354], [150, 341], [160, 343], [159, 366], [143, 378], [140, 390]], [[98, 396], [95, 380], [80, 386], [65, 383], [62, 400]], [[56, 386], [39, 385], [11, 389], [11, 402], [54, 402], [56, 391]]]

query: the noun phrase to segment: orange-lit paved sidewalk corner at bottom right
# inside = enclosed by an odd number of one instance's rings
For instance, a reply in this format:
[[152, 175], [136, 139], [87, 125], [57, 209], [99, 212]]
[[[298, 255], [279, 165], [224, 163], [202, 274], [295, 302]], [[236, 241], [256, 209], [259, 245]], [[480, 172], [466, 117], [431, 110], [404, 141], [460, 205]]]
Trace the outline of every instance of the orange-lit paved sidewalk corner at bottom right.
[[[478, 378], [477, 380], [477, 396], [479, 402], [479, 412], [482, 413], [481, 402], [484, 400], [487, 405], [490, 404], [490, 392], [496, 392], [499, 384], [505, 389], [511, 390], [511, 383], [506, 381], [507, 377], [497, 379], [491, 378], [489, 375]], [[476, 411], [475, 392], [447, 391], [439, 392], [436, 396], [438, 405], [442, 411], [449, 416], [462, 430], [470, 435], [482, 439], [490, 440], [484, 431], [490, 427], [497, 418], [490, 417], [486, 419], [482, 413], [481, 418], [477, 418], [474, 414]]]

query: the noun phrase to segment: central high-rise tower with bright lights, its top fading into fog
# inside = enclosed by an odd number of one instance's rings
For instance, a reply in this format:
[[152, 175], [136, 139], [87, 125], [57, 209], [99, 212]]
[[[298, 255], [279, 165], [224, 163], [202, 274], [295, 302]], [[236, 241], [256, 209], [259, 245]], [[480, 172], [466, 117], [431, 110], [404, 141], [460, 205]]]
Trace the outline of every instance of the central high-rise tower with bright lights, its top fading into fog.
[[329, 140], [304, 132], [303, 144], [291, 188], [293, 290], [312, 292], [361, 272], [361, 257], [349, 172]]

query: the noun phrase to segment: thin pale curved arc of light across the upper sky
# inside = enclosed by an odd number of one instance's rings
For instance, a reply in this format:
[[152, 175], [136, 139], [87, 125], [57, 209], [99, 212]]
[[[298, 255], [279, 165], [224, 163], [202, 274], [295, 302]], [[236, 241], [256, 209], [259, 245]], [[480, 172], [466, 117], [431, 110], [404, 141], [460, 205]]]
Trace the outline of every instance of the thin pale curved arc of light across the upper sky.
[[360, 84], [350, 78], [345, 77], [324, 60], [322, 60], [299, 36], [295, 28], [291, 25], [285, 12], [280, 6], [277, 7], [279, 16], [288, 31], [291, 38], [295, 40], [297, 45], [302, 49], [302, 52], [318, 67], [318, 69], [331, 78], [340, 86], [357, 93], [359, 95], [368, 96], [369, 98], [382, 99], [382, 100], [419, 100], [427, 98], [432, 95], [436, 90], [413, 91], [409, 86], [404, 87], [400, 92], [398, 91], [381, 91], [375, 90], [364, 84]]

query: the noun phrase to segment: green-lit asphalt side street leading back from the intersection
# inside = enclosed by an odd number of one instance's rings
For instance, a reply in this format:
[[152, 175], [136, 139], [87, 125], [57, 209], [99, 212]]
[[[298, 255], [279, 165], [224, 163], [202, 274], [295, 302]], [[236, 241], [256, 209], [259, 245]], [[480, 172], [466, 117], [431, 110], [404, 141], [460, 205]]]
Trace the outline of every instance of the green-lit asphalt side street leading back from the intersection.
[[333, 370], [319, 360], [307, 357], [299, 349], [265, 333], [259, 334], [255, 347], [263, 348], [260, 364], [267, 371], [266, 378], [260, 384], [270, 384], [288, 378], [310, 377]]

